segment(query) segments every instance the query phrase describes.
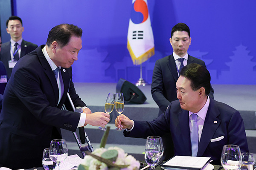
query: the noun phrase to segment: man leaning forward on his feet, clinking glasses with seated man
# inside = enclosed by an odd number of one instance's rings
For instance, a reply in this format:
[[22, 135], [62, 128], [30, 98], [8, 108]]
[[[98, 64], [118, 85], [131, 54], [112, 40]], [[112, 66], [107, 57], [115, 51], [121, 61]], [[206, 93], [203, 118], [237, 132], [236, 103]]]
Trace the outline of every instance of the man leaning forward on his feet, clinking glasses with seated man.
[[[0, 113], [0, 164], [11, 169], [40, 167], [42, 154], [60, 128], [75, 131], [87, 124], [104, 127], [109, 114], [91, 113], [76, 94], [71, 65], [81, 49], [82, 30], [61, 24], [49, 31], [47, 45], [22, 57], [12, 71]], [[70, 105], [83, 113], [61, 110]], [[87, 113], [87, 114], [85, 114]]]

